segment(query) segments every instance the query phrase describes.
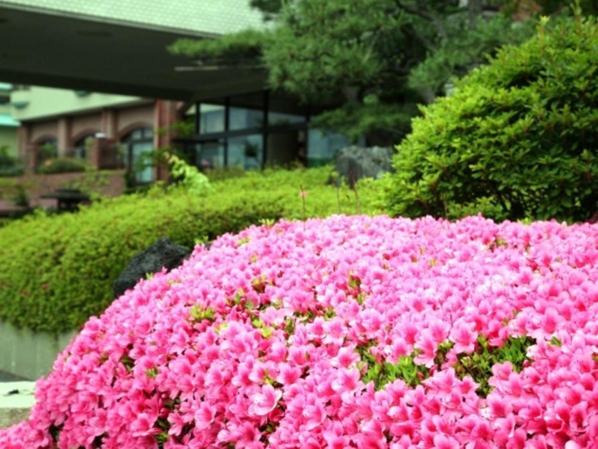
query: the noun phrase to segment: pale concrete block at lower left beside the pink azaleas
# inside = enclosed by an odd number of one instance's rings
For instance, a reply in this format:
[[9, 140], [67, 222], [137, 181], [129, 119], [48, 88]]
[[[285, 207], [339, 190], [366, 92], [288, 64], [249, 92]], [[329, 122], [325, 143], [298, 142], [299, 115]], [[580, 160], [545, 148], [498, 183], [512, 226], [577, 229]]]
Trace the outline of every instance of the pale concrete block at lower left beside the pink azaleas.
[[5, 429], [29, 417], [35, 402], [35, 382], [0, 383], [0, 429]]

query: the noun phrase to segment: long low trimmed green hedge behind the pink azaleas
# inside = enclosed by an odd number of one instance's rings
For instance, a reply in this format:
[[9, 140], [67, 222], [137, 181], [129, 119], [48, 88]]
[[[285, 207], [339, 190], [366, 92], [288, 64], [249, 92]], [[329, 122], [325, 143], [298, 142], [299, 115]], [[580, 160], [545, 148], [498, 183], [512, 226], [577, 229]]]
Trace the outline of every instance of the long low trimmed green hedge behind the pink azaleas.
[[[0, 229], [0, 319], [34, 330], [75, 329], [112, 301], [112, 283], [129, 260], [161, 236], [191, 248], [262, 219], [337, 213], [330, 168], [251, 172], [212, 184], [204, 197], [152, 190], [84, 207], [75, 214], [38, 214]], [[359, 185], [364, 213], [372, 213], [376, 184]], [[343, 187], [343, 213], [357, 211]]]

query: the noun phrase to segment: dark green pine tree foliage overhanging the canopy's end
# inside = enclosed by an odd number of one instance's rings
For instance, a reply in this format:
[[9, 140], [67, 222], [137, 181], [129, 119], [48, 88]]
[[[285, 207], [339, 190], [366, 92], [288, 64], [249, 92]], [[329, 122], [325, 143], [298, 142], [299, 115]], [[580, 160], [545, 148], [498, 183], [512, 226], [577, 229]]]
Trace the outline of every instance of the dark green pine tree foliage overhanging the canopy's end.
[[[591, 3], [591, 0], [584, 0]], [[559, 11], [553, 0], [532, 13]], [[328, 112], [317, 125], [400, 141], [416, 104], [446, 93], [453, 77], [486, 61], [503, 44], [533, 31], [511, 19], [517, 0], [251, 0], [271, 26], [170, 48], [200, 63], [264, 68], [280, 89]], [[536, 4], [535, 4], [536, 5]], [[526, 13], [527, 14], [527, 13]]]

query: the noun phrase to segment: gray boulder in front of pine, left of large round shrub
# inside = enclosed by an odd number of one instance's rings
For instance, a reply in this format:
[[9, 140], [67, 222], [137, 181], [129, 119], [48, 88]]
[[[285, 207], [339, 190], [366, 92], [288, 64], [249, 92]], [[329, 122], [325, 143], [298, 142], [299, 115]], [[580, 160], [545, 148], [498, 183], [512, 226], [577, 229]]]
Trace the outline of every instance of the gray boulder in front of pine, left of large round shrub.
[[378, 179], [392, 170], [392, 153], [392, 148], [385, 147], [345, 147], [338, 150], [336, 171], [350, 187], [361, 178]]

